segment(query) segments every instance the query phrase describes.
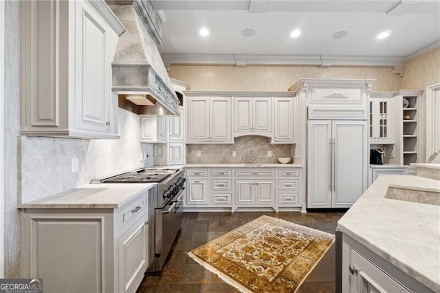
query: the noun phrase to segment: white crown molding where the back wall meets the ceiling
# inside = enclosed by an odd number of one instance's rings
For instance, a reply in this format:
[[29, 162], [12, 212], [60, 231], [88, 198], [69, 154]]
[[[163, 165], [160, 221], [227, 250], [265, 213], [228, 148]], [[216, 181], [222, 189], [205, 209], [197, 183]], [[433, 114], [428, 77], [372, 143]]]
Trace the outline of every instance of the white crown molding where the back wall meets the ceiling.
[[384, 66], [404, 65], [406, 57], [399, 56], [323, 56], [276, 54], [162, 54], [164, 63], [172, 65], [314, 65]]

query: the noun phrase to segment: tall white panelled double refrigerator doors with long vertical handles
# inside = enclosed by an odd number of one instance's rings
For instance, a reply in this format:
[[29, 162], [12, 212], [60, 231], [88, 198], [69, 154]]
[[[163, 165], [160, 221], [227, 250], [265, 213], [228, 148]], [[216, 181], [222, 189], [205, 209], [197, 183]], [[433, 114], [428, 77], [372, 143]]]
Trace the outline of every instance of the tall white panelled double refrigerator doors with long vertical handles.
[[367, 184], [363, 120], [309, 120], [307, 207], [347, 208]]

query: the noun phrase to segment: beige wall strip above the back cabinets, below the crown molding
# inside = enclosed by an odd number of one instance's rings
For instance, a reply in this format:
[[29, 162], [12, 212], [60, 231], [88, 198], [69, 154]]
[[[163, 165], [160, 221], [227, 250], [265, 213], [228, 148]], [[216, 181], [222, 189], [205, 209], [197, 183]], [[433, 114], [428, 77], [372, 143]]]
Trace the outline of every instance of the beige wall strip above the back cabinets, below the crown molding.
[[168, 74], [196, 91], [287, 91], [300, 78], [373, 78], [373, 91], [397, 91], [401, 78], [392, 71], [391, 67], [172, 65]]

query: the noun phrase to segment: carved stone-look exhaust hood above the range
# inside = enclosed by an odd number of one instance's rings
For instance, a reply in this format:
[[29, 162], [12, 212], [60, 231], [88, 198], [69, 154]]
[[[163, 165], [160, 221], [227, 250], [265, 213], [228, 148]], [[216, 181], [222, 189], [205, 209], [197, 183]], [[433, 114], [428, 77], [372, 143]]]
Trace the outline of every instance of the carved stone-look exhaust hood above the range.
[[126, 28], [111, 64], [119, 106], [138, 114], [178, 116], [179, 100], [155, 43], [162, 45], [151, 17], [157, 12], [145, 0], [107, 4]]

